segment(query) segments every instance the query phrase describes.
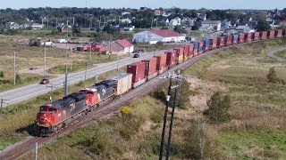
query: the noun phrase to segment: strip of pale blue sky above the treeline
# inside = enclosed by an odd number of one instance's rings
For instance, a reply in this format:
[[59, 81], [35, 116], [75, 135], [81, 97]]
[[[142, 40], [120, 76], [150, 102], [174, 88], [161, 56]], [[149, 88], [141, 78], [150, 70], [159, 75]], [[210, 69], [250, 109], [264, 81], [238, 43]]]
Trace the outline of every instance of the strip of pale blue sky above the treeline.
[[283, 9], [286, 0], [2, 0], [1, 9], [29, 7], [101, 7], [101, 8], [171, 8], [184, 9]]

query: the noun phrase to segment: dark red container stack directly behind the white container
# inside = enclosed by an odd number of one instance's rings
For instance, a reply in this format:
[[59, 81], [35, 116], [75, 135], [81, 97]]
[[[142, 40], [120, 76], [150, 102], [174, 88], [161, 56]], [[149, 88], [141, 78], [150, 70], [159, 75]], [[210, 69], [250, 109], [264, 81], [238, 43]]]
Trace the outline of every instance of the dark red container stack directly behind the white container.
[[127, 66], [127, 73], [132, 74], [132, 87], [136, 88], [146, 82], [145, 62], [135, 62]]

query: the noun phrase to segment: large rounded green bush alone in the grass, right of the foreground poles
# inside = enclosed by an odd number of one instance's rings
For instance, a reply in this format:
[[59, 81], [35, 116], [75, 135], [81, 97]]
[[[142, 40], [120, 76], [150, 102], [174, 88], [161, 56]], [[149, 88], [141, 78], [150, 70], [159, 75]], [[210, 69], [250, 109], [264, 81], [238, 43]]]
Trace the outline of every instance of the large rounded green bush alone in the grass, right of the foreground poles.
[[214, 124], [226, 123], [231, 121], [231, 115], [228, 113], [231, 108], [231, 97], [226, 95], [223, 97], [221, 92], [215, 92], [210, 100], [206, 101], [208, 109], [204, 111], [204, 115], [208, 116]]

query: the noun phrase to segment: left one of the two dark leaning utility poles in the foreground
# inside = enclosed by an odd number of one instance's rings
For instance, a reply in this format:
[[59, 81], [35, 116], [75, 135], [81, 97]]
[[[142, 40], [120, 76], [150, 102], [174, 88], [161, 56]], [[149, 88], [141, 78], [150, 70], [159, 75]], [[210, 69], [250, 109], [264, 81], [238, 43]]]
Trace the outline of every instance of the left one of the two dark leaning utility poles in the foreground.
[[171, 86], [172, 86], [172, 78], [171, 74], [169, 73], [169, 88], [168, 88], [168, 94], [166, 95], [166, 100], [165, 100], [165, 108], [164, 108], [164, 124], [163, 124], [163, 129], [162, 129], [162, 136], [161, 136], [161, 147], [160, 147], [160, 157], [159, 160], [162, 160], [163, 158], [163, 153], [164, 153], [164, 134], [166, 130], [166, 123], [167, 123], [167, 115], [168, 115], [168, 108], [169, 108], [169, 101], [170, 101], [170, 94], [171, 94]]

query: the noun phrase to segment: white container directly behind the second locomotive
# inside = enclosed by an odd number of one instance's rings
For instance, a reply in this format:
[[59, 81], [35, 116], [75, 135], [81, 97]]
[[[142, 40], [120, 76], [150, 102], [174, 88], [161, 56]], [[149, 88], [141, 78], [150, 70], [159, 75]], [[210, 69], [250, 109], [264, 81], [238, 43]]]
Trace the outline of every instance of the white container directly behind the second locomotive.
[[132, 74], [122, 73], [112, 78], [116, 95], [122, 95], [132, 88]]

